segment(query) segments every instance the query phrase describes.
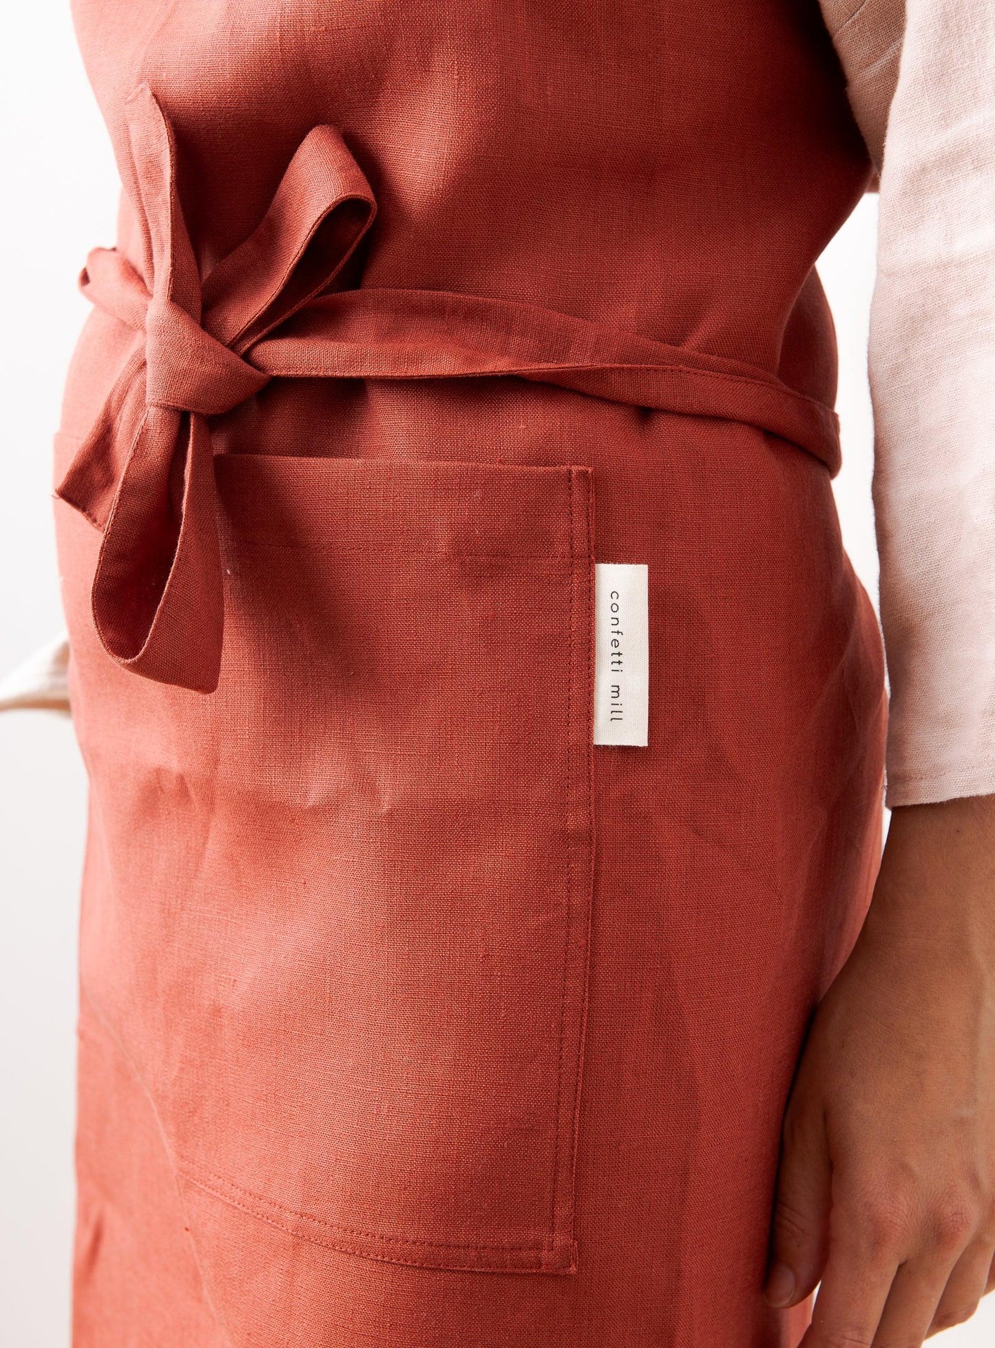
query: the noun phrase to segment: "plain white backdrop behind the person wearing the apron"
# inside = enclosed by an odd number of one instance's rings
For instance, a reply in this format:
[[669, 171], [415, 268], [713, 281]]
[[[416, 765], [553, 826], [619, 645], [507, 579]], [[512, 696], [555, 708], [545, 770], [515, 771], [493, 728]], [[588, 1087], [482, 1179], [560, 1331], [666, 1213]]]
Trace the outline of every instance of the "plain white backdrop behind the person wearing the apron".
[[[66, 0], [11, 7], [0, 49], [0, 673], [61, 625], [51, 435], [86, 313], [84, 257], [113, 241], [117, 174], [74, 46]], [[876, 201], [866, 198], [821, 271], [836, 314], [845, 466], [836, 479], [853, 563], [876, 593], [864, 373]], [[0, 1343], [66, 1348], [73, 1215], [77, 891], [85, 778], [71, 723], [0, 716]], [[990, 1304], [991, 1302], [991, 1304]], [[995, 1297], [936, 1341], [982, 1348]], [[125, 1348], [108, 1344], [107, 1348]], [[187, 1348], [187, 1345], [177, 1345]], [[190, 1345], [193, 1348], [193, 1345]]]

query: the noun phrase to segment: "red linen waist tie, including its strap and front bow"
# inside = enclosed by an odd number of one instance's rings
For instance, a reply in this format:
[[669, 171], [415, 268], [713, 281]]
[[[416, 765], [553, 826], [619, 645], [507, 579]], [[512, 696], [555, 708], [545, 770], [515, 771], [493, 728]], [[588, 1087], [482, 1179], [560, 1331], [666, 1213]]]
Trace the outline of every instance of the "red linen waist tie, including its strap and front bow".
[[135, 342], [57, 495], [102, 531], [93, 617], [108, 654], [136, 674], [217, 687], [224, 599], [206, 418], [274, 377], [515, 375], [747, 422], [814, 454], [831, 474], [840, 466], [835, 411], [737, 361], [481, 295], [320, 294], [376, 214], [332, 127], [305, 136], [259, 226], [202, 280], [177, 193], [173, 129], [148, 85], [125, 113], [143, 274], [97, 248], [80, 283], [135, 330]]

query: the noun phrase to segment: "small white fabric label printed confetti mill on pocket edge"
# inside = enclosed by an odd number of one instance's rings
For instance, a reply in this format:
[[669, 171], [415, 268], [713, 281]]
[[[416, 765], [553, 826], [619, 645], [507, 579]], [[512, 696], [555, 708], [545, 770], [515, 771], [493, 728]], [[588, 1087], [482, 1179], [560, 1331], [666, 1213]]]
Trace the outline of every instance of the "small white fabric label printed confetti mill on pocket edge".
[[649, 569], [596, 562], [595, 744], [649, 744]]

